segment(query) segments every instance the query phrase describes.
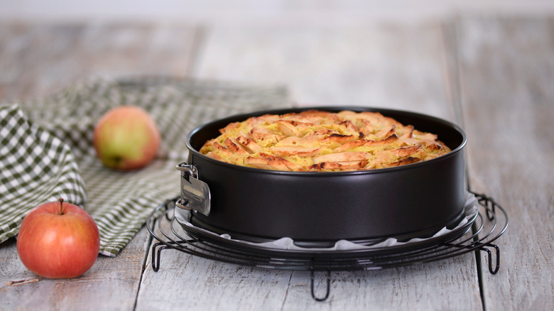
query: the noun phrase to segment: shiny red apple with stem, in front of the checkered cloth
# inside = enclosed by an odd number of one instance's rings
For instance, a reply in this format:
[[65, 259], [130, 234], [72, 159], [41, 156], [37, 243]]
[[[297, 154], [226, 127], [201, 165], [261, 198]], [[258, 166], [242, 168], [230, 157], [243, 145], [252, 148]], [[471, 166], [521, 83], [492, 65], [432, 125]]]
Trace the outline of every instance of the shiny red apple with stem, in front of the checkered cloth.
[[77, 205], [48, 202], [29, 212], [17, 237], [17, 253], [45, 278], [76, 278], [96, 261], [100, 236], [94, 219]]

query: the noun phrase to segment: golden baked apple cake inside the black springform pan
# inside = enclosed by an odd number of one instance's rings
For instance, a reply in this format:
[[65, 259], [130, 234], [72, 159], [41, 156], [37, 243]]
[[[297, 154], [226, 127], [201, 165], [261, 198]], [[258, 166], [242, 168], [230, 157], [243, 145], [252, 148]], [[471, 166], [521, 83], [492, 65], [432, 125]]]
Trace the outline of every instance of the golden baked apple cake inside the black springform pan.
[[371, 170], [450, 152], [433, 133], [379, 112], [265, 114], [220, 129], [200, 153], [227, 163], [287, 171]]

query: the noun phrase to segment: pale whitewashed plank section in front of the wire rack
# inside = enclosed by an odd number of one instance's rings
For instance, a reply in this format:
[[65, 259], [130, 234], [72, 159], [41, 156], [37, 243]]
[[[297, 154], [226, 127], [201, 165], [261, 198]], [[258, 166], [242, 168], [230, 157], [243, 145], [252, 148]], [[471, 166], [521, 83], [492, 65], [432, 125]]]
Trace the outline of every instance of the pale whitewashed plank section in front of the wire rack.
[[[197, 258], [165, 250], [161, 269], [151, 258], [137, 310], [479, 310], [467, 300], [479, 292], [473, 255], [382, 271], [335, 271], [330, 297], [310, 296], [310, 273], [279, 271]], [[325, 273], [316, 273], [315, 294], [325, 294]]]

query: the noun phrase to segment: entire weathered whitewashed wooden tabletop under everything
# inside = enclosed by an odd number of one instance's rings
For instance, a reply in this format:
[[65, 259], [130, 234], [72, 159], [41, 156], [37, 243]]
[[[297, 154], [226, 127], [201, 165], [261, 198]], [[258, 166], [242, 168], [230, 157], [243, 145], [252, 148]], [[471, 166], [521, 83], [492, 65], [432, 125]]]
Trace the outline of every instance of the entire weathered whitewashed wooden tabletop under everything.
[[[0, 99], [43, 97], [91, 75], [284, 84], [298, 106], [418, 111], [467, 132], [469, 188], [509, 229], [499, 272], [482, 253], [379, 271], [268, 271], [165, 251], [143, 228], [85, 275], [48, 280], [0, 244], [1, 310], [551, 310], [554, 305], [554, 18], [453, 16], [416, 24], [0, 24]], [[0, 194], [1, 195], [1, 194]], [[478, 258], [477, 258], [477, 257]], [[319, 277], [318, 277], [319, 278]], [[317, 285], [317, 290], [321, 290]]]

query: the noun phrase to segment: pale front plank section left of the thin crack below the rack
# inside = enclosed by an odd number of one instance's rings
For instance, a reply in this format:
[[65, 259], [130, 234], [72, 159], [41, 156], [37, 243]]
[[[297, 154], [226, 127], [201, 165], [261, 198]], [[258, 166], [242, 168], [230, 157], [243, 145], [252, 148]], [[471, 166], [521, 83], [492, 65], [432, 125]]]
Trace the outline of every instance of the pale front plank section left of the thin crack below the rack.
[[287, 271], [219, 263], [175, 250], [162, 252], [157, 273], [150, 264], [151, 257], [137, 310], [274, 310], [286, 299], [290, 280]]

